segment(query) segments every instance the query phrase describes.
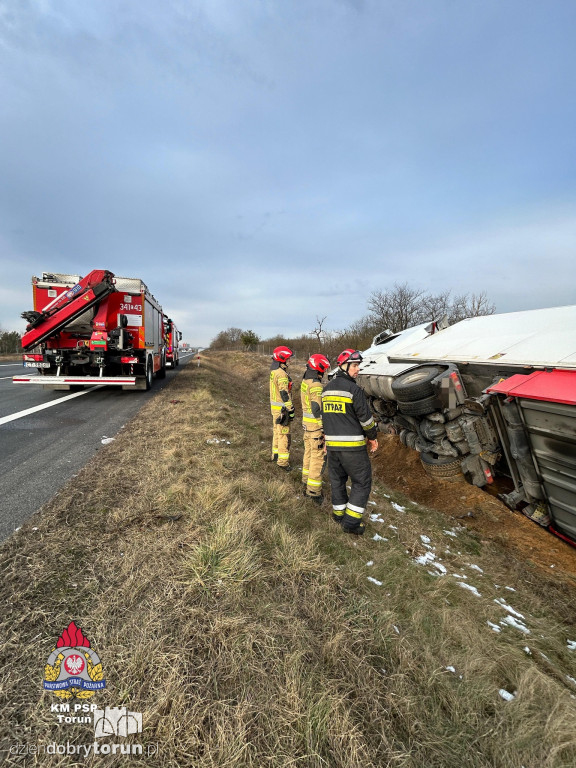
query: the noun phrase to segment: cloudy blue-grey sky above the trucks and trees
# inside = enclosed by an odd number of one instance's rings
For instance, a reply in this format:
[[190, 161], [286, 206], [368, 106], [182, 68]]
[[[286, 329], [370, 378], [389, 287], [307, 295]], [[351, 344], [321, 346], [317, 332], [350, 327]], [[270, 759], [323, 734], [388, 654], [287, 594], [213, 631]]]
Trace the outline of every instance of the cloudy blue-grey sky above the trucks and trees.
[[193, 345], [395, 283], [576, 303], [574, 0], [0, 0], [0, 328], [139, 277]]

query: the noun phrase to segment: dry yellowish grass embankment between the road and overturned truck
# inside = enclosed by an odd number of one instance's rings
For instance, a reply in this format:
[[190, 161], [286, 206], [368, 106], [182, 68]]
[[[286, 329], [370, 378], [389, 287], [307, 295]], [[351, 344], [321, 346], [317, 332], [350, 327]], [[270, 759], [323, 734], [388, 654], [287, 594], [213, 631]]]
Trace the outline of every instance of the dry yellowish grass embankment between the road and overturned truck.
[[573, 766], [573, 591], [378, 482], [384, 522], [344, 536], [268, 463], [267, 389], [264, 359], [204, 356], [3, 547], [5, 743], [93, 741], [42, 692], [74, 619], [98, 705], [142, 712], [159, 748], [8, 764]]

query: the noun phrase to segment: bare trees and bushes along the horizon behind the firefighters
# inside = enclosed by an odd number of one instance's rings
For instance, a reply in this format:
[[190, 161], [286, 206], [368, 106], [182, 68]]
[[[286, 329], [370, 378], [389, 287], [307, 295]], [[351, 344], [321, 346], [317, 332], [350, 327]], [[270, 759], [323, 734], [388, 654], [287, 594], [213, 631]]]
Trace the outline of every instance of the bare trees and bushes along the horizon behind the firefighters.
[[285, 344], [296, 357], [305, 359], [322, 352], [330, 359], [346, 348], [367, 349], [381, 331], [398, 333], [420, 323], [445, 318], [450, 325], [467, 317], [493, 315], [494, 304], [484, 291], [452, 295], [450, 290], [433, 294], [395, 283], [391, 288], [373, 291], [368, 297], [367, 314], [342, 330], [328, 330], [327, 317], [316, 317], [314, 328], [296, 338], [273, 336], [261, 339], [252, 330], [227, 328], [212, 339], [210, 349], [260, 351], [269, 354]]

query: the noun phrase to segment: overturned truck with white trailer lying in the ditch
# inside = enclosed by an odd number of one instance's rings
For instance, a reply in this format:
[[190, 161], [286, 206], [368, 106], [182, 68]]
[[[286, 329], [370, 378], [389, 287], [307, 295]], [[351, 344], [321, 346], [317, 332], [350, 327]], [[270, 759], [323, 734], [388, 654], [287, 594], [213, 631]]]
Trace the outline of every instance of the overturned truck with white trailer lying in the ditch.
[[576, 306], [384, 331], [358, 383], [424, 470], [478, 487], [576, 542]]

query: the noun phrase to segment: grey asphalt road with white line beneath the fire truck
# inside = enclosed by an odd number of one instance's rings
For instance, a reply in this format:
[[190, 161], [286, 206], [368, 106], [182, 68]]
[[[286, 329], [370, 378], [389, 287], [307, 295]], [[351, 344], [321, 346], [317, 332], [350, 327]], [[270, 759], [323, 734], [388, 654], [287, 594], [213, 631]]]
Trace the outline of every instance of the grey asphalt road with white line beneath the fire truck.
[[[192, 358], [181, 355], [180, 366]], [[0, 363], [0, 541], [50, 501], [105, 448], [102, 440], [114, 437], [179, 370], [168, 369], [148, 392], [119, 387], [55, 392], [13, 384], [12, 376], [25, 371], [22, 363]], [[46, 403], [54, 405], [2, 423], [3, 417]]]

